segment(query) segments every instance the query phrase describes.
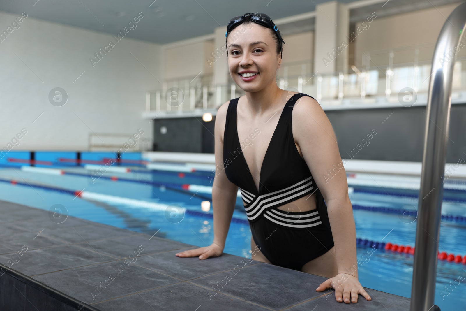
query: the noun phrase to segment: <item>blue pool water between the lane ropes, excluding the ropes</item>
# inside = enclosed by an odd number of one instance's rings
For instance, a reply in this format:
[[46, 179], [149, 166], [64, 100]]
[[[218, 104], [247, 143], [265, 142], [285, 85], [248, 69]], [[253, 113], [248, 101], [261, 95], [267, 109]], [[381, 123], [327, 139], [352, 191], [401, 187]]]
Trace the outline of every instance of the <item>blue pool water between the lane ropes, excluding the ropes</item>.
[[[106, 155], [99, 155], [105, 157]], [[136, 158], [135, 158], [136, 159]], [[68, 166], [66, 171], [88, 174], [81, 167]], [[173, 223], [166, 217], [165, 211], [153, 211], [143, 207], [109, 204], [83, 200], [70, 194], [43, 190], [35, 187], [11, 185], [0, 182], [0, 199], [37, 207], [45, 210], [55, 204], [61, 204], [69, 215], [97, 221], [104, 224], [128, 228], [166, 237], [175, 241], [196, 246], [210, 245], [213, 240], [212, 209], [201, 210], [201, 202], [208, 194], [201, 197], [193, 193], [171, 190], [168, 187], [154, 186], [153, 183], [172, 184], [209, 184], [209, 173], [186, 174], [184, 178], [171, 172], [145, 172], [144, 169], [132, 173], [104, 173], [103, 177], [117, 176], [144, 182], [117, 182], [105, 178], [92, 180], [77, 175], [47, 175], [29, 173], [15, 168], [0, 168], [0, 179], [27, 181], [30, 184], [43, 184], [69, 190], [83, 190], [99, 194], [109, 194], [124, 198], [150, 202], [172, 204], [185, 207], [197, 213], [185, 213], [182, 221]], [[152, 184], [151, 184], [152, 183]], [[417, 199], [383, 194], [355, 192], [351, 195], [353, 205], [398, 207], [417, 206]], [[240, 205], [238, 200], [238, 205]], [[465, 203], [456, 203], [459, 206]], [[204, 214], [203, 214], [204, 213]], [[235, 209], [233, 217], [245, 221], [246, 215], [240, 208]], [[406, 220], [400, 214], [354, 210], [356, 235], [362, 239], [378, 242], [392, 242], [402, 245], [414, 245], [416, 221]], [[412, 221], [412, 222], [411, 222]], [[248, 256], [250, 251], [251, 232], [249, 226], [241, 221], [232, 222], [226, 239], [225, 252]], [[365, 287], [382, 290], [392, 294], [410, 297], [413, 256], [399, 254], [384, 249], [377, 249], [370, 256], [370, 248], [358, 247], [357, 258], [362, 262], [359, 268], [359, 279]], [[440, 228], [439, 250], [447, 253], [466, 255], [466, 222], [442, 221]], [[365, 255], [365, 256], [364, 256]], [[442, 310], [465, 310], [466, 305], [466, 265], [439, 261], [435, 303]], [[445, 286], [450, 291], [445, 290]], [[375, 300], [377, 297], [373, 296]]]

